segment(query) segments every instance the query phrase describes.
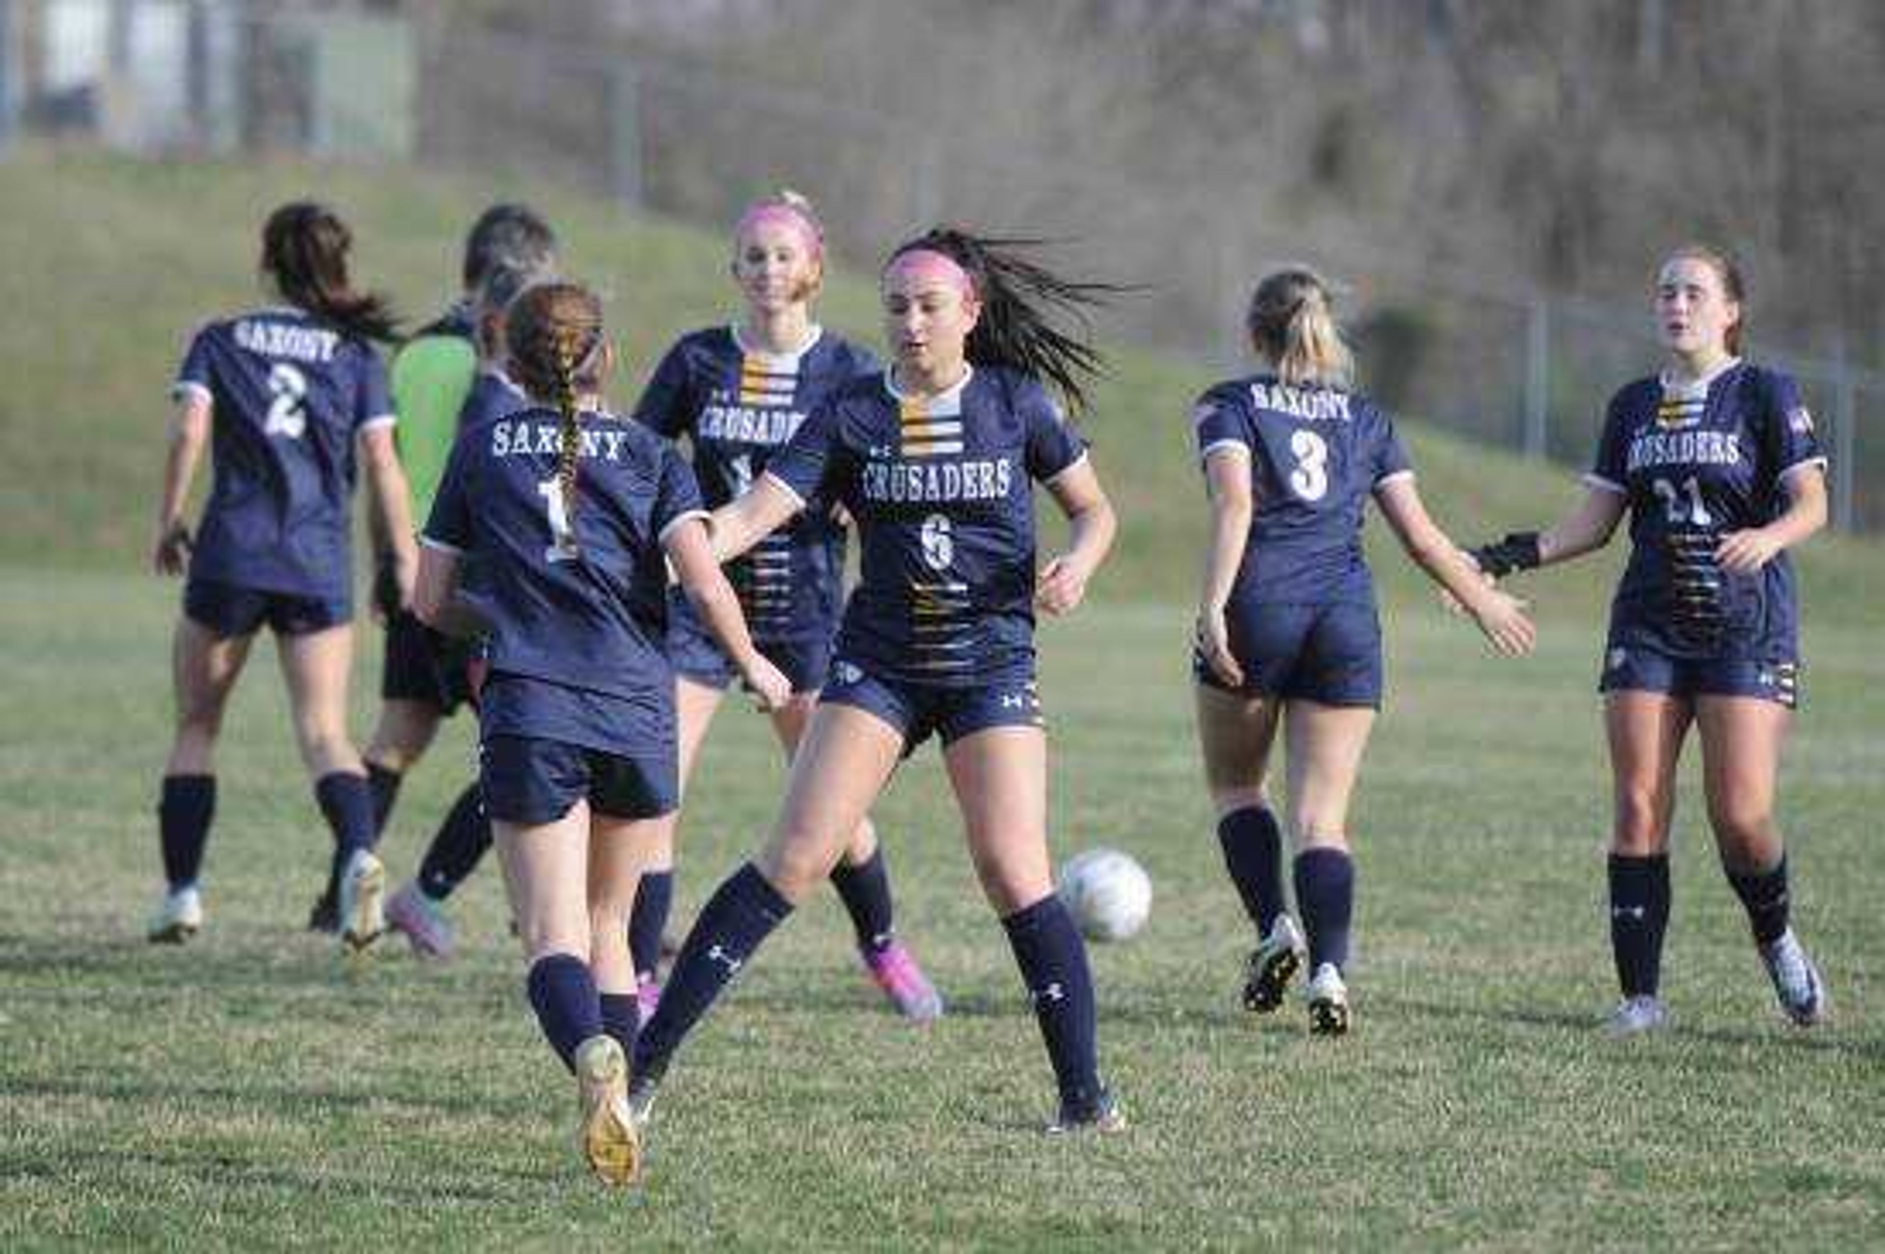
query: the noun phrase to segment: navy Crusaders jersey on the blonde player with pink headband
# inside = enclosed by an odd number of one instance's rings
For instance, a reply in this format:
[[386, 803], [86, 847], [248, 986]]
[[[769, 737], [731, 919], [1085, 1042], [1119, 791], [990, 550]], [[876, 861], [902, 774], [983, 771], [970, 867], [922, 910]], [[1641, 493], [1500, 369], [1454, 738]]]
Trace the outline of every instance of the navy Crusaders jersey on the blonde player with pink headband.
[[[667, 351], [635, 417], [669, 439], [686, 436], [701, 494], [720, 507], [752, 487], [807, 413], [875, 371], [869, 353], [818, 328], [799, 353], [760, 353], [733, 328], [714, 326]], [[829, 635], [843, 602], [844, 530], [828, 505], [812, 503], [726, 573], [756, 641]]]

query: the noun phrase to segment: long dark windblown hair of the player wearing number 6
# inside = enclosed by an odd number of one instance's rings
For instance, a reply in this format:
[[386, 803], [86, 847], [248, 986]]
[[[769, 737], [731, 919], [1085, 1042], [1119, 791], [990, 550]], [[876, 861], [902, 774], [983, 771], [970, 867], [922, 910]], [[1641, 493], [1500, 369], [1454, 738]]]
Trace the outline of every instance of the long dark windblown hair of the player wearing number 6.
[[[975, 366], [1010, 366], [1059, 388], [1067, 407], [1082, 413], [1086, 383], [1105, 371], [1105, 358], [1090, 343], [1090, 309], [1127, 289], [1112, 283], [1063, 279], [1031, 262], [1025, 251], [1042, 239], [995, 239], [961, 226], [933, 226], [899, 243], [890, 255], [942, 253], [969, 275], [982, 302], [982, 317], [969, 332], [965, 356]], [[888, 264], [886, 264], [888, 266]], [[1073, 322], [1076, 332], [1056, 322]]]

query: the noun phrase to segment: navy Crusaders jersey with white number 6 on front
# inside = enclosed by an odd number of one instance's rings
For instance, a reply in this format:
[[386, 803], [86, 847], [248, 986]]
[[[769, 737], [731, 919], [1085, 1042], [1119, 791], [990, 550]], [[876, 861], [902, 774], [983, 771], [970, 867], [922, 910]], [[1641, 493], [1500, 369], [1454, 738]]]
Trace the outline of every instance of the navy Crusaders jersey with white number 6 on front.
[[816, 409], [767, 473], [858, 520], [837, 652], [884, 679], [978, 686], [1033, 664], [1033, 481], [1082, 456], [1027, 375], [982, 368], [918, 400], [886, 371]]

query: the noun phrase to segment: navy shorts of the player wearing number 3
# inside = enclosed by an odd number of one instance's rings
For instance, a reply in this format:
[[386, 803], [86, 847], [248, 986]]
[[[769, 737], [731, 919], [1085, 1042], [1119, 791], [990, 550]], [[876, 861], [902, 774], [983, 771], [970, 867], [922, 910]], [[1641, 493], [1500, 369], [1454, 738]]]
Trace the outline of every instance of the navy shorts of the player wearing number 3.
[[1193, 651], [1191, 673], [1206, 688], [1280, 701], [1382, 707], [1382, 622], [1374, 605], [1233, 602], [1225, 626], [1231, 656], [1244, 668], [1244, 686], [1225, 685]]

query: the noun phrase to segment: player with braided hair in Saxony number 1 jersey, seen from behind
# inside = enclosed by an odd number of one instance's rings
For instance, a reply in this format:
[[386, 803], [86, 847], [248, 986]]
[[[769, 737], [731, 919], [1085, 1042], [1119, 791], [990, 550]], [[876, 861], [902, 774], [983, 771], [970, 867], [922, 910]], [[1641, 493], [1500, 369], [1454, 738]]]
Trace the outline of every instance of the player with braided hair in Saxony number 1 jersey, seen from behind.
[[[415, 609], [484, 634], [481, 783], [543, 1033], [577, 1075], [582, 1152], [639, 1173], [626, 1107], [635, 969], [628, 915], [679, 801], [667, 573], [765, 705], [788, 681], [746, 635], [699, 490], [673, 445], [603, 411], [601, 302], [539, 283], [513, 302], [509, 370], [530, 394], [458, 437], [426, 522]], [[479, 562], [473, 586], [460, 560]]]

